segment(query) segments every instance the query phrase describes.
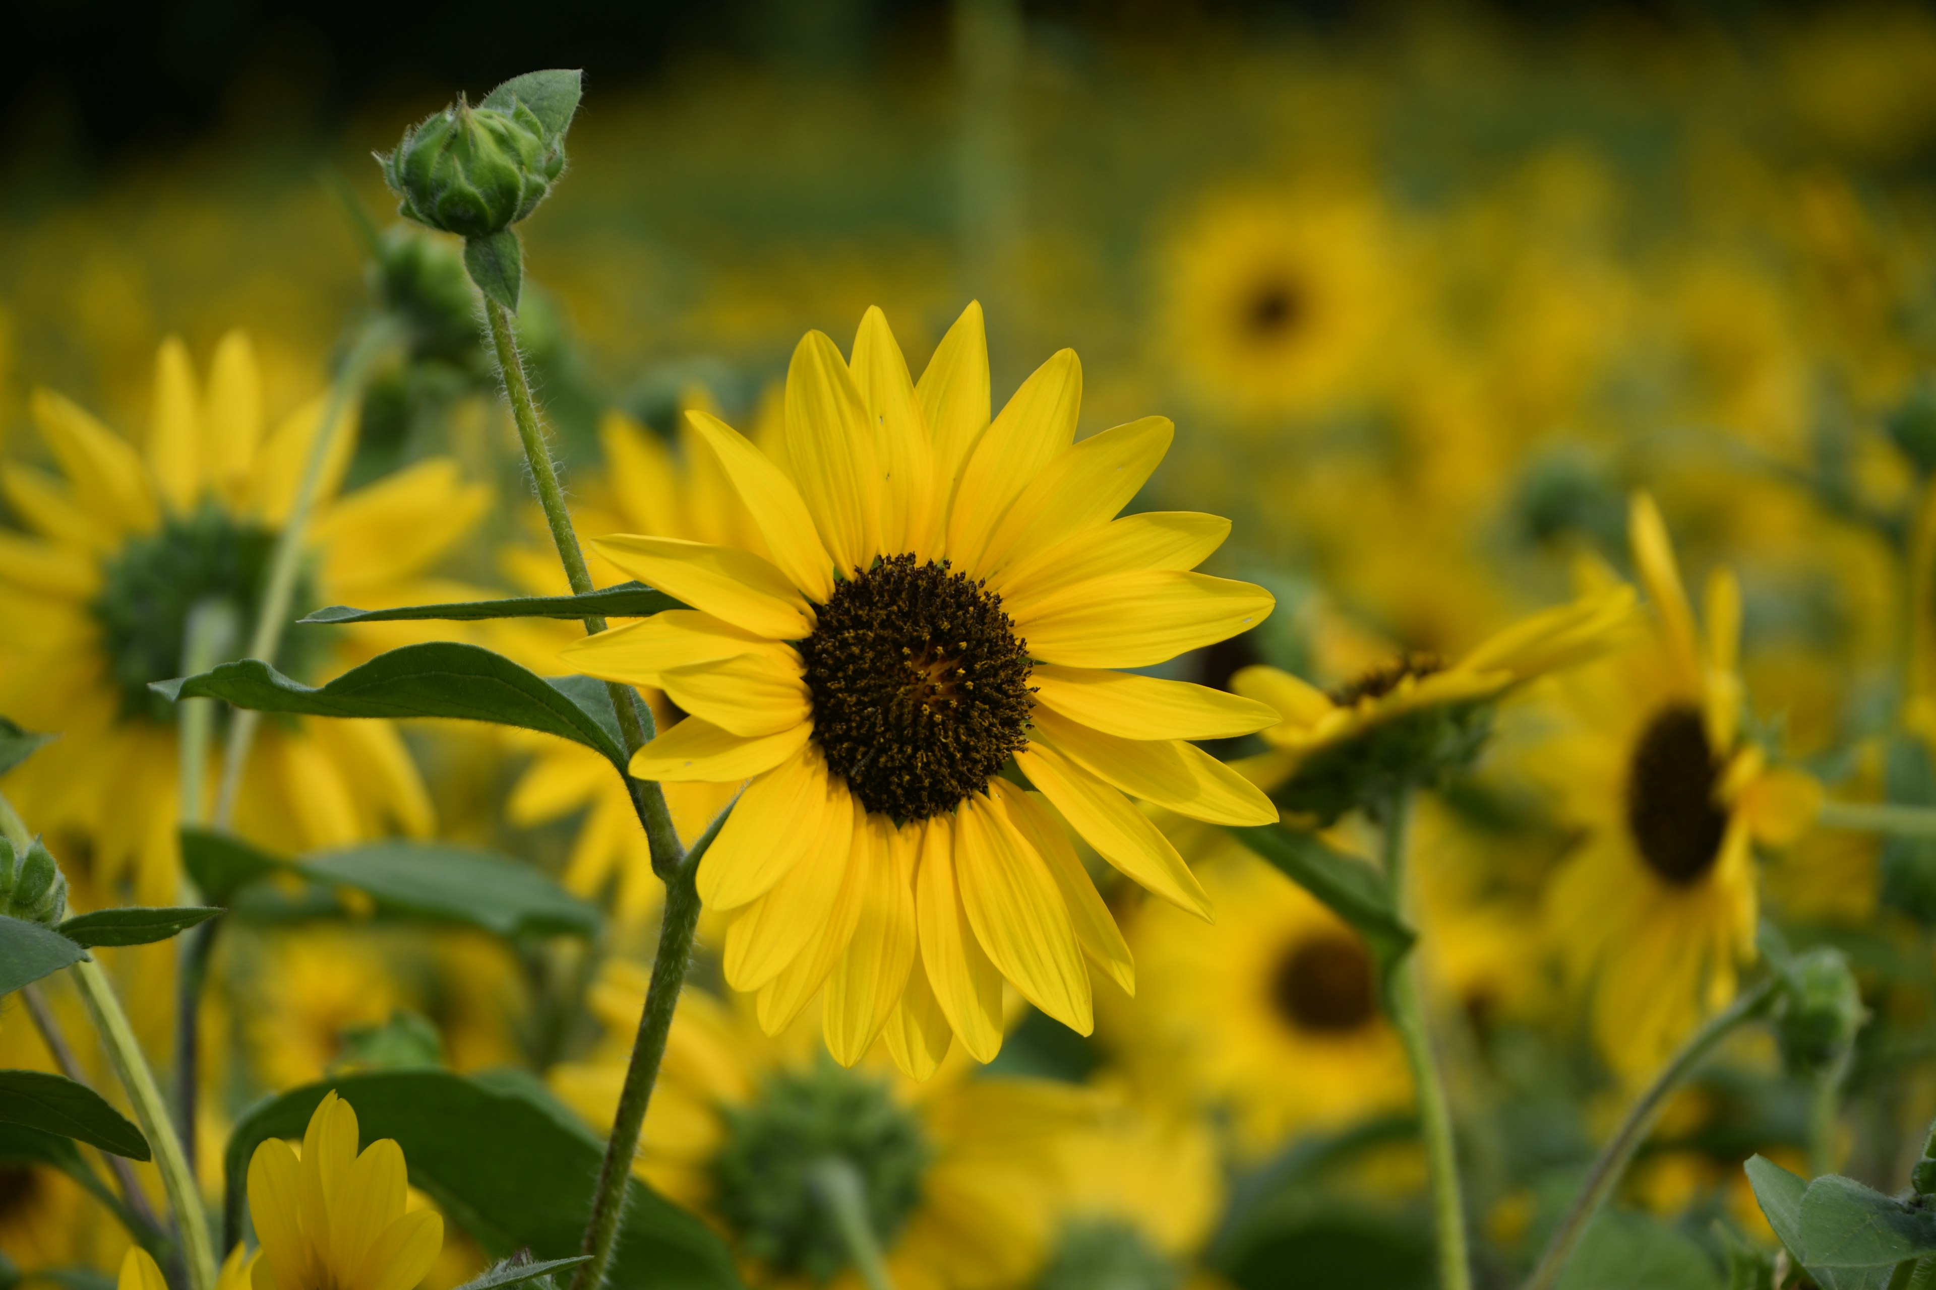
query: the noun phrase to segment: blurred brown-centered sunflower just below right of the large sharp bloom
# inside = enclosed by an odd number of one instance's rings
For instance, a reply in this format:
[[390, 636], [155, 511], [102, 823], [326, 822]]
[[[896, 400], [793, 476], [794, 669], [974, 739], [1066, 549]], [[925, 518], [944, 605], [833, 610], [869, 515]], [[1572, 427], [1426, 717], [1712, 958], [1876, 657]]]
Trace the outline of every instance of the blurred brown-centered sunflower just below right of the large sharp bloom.
[[1338, 915], [1231, 839], [1198, 874], [1218, 926], [1146, 903], [1129, 944], [1146, 969], [1109, 1039], [1138, 1083], [1227, 1116], [1243, 1157], [1411, 1100], [1378, 1008], [1371, 950]]

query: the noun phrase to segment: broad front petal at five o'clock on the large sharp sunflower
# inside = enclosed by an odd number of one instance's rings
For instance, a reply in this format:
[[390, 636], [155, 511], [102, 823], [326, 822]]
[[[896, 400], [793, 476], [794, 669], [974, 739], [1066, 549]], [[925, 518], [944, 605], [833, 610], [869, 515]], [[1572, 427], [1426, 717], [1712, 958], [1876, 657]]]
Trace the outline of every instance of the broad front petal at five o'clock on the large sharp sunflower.
[[982, 950], [1030, 1004], [1088, 1035], [1088, 969], [1047, 865], [987, 799], [960, 805], [954, 837], [962, 909]]

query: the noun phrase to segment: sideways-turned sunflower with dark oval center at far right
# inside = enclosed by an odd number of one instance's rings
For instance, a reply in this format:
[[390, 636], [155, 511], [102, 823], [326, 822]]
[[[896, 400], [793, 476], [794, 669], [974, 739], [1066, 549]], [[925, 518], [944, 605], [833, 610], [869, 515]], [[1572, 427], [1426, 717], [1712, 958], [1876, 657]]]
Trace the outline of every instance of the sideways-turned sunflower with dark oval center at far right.
[[1649, 1073], [1754, 959], [1754, 843], [1799, 837], [1820, 785], [1771, 770], [1740, 729], [1740, 590], [1708, 580], [1706, 640], [1667, 526], [1646, 493], [1630, 516], [1653, 629], [1558, 687], [1566, 731], [1529, 758], [1586, 830], [1549, 894], [1568, 977], [1593, 1037], [1628, 1077]]

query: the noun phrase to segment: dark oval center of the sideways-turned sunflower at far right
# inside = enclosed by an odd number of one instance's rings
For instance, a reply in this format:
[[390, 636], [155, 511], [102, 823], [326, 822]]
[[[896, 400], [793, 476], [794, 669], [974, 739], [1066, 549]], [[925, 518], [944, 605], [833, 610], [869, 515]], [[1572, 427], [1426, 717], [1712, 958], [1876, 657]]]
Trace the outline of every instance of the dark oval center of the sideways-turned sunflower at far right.
[[1626, 828], [1640, 859], [1673, 884], [1692, 884], [1713, 868], [1727, 836], [1715, 803], [1721, 768], [1698, 708], [1661, 708], [1634, 743], [1626, 768]]

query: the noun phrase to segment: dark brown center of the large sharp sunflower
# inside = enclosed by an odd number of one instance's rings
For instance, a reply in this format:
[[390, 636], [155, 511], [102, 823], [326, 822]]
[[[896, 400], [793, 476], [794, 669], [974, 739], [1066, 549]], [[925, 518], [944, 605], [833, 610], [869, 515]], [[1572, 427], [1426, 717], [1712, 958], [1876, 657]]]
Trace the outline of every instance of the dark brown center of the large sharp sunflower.
[[840, 582], [800, 642], [813, 737], [867, 810], [925, 820], [987, 789], [1028, 729], [1026, 642], [947, 561]]

